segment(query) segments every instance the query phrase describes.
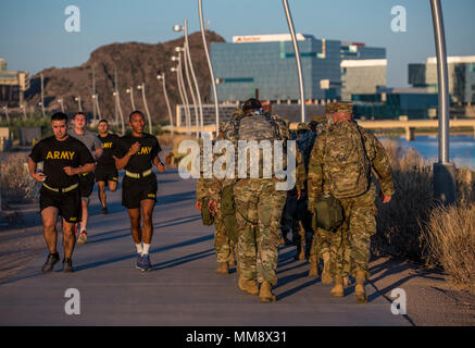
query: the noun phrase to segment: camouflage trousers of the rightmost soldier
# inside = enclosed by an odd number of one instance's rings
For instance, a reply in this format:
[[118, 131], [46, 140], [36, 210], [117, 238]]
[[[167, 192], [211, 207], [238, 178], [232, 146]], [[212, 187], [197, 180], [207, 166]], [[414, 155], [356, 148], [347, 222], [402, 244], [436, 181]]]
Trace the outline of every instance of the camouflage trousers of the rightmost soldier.
[[370, 261], [371, 236], [376, 233], [375, 186], [361, 196], [340, 199], [345, 222], [332, 239], [332, 275], [355, 276], [357, 271], [366, 272]]

